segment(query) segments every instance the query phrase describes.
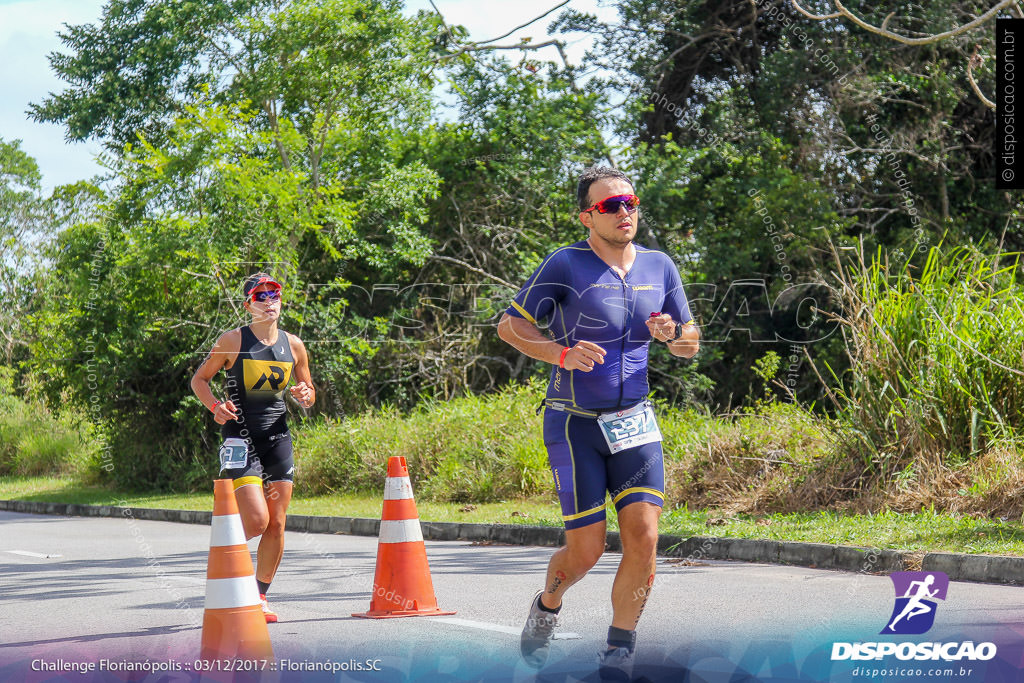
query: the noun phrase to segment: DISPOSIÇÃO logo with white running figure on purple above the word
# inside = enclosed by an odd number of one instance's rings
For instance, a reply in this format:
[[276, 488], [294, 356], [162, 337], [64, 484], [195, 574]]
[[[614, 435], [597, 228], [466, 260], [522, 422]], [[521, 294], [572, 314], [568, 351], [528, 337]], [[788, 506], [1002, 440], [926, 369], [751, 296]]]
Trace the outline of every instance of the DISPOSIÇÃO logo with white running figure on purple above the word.
[[[935, 624], [936, 600], [945, 600], [949, 577], [941, 571], [894, 571], [889, 575], [896, 591], [896, 603], [881, 635], [915, 636]], [[833, 643], [831, 659], [897, 659], [956, 661], [988, 660], [995, 656], [994, 643], [964, 642], [863, 642]]]

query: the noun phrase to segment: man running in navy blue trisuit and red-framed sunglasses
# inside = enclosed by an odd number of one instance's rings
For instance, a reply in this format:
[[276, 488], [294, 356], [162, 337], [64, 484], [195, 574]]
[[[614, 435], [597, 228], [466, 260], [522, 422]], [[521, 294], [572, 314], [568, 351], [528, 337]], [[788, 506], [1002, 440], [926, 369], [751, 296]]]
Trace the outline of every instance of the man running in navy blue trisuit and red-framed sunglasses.
[[646, 401], [647, 350], [653, 339], [667, 342], [673, 355], [692, 357], [699, 332], [676, 265], [633, 242], [639, 199], [630, 179], [610, 168], [588, 168], [577, 199], [588, 239], [549, 254], [498, 324], [503, 340], [554, 366], [544, 442], [565, 523], [565, 546], [551, 558], [520, 646], [530, 666], [547, 660], [562, 595], [604, 552], [608, 492], [623, 558], [599, 663], [602, 675], [615, 675], [632, 669], [664, 503], [660, 433]]

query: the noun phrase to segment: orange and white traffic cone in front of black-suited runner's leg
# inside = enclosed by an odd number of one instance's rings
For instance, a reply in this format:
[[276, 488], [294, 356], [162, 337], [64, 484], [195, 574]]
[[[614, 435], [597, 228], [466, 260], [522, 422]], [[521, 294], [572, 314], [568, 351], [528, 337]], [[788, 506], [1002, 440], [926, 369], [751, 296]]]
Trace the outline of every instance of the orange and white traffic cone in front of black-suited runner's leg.
[[272, 659], [256, 571], [230, 479], [213, 482], [210, 560], [206, 570], [203, 659]]

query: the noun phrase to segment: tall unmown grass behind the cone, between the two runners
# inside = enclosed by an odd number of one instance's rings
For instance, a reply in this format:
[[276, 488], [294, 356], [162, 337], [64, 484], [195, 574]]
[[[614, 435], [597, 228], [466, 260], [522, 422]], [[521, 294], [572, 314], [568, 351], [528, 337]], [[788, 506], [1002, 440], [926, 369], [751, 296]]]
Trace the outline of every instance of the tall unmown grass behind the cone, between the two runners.
[[490, 502], [551, 485], [536, 384], [487, 396], [393, 408], [298, 430], [298, 494], [381, 492], [391, 456], [406, 458], [417, 497]]

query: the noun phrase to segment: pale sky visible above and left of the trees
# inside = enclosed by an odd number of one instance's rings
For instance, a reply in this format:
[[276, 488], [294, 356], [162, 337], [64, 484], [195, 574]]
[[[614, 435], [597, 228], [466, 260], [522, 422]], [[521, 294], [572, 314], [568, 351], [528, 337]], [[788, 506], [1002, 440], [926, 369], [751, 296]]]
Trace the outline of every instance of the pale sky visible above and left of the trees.
[[[496, 38], [524, 24], [559, 0], [434, 0], [449, 24], [465, 26], [473, 40]], [[597, 14], [605, 20], [616, 16], [611, 0], [570, 0], [567, 7]], [[60, 50], [57, 32], [65, 24], [97, 22], [104, 0], [0, 0], [0, 138], [22, 140], [22, 148], [36, 159], [46, 191], [54, 186], [90, 178], [101, 171], [95, 161], [101, 152], [98, 142], [65, 139], [62, 126], [36, 123], [26, 114], [30, 102], [41, 101], [48, 93], [59, 92], [63, 84], [50, 71], [47, 55]], [[431, 9], [429, 0], [406, 0], [407, 11]], [[561, 9], [519, 31], [502, 44], [520, 37], [541, 40], [548, 25]], [[568, 39], [570, 60], [579, 63], [589, 46], [589, 38], [573, 34]], [[519, 53], [516, 53], [517, 55]], [[554, 48], [542, 52], [543, 59], [557, 60]]]

